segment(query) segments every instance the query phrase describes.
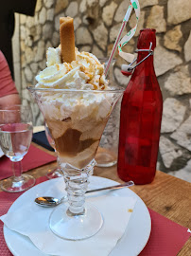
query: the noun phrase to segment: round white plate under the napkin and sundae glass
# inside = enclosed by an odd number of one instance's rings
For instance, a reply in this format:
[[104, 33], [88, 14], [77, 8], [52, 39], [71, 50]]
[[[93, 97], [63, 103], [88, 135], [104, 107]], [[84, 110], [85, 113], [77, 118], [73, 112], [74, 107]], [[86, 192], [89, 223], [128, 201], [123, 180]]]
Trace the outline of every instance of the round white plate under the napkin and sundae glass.
[[[54, 184], [56, 179], [45, 181], [30, 190], [23, 193], [10, 207], [9, 211], [18, 209], [25, 204], [27, 200], [33, 200], [35, 197], [45, 194], [49, 185]], [[90, 177], [89, 189], [96, 189], [118, 184], [117, 182], [101, 178], [97, 176]], [[102, 192], [103, 193], [103, 192]], [[135, 256], [138, 255], [146, 246], [151, 229], [151, 220], [148, 208], [141, 200], [141, 198], [129, 189], [122, 189], [113, 191], [115, 196], [130, 196], [137, 198], [137, 203], [130, 217], [129, 225], [125, 234], [120, 239], [116, 247], [110, 253], [110, 256]], [[9, 250], [15, 256], [44, 256], [37, 247], [24, 235], [8, 229], [4, 225], [4, 236]], [[64, 248], [63, 248], [64, 251]], [[66, 255], [68, 256], [68, 255]], [[88, 252], [87, 255], [88, 256]]]

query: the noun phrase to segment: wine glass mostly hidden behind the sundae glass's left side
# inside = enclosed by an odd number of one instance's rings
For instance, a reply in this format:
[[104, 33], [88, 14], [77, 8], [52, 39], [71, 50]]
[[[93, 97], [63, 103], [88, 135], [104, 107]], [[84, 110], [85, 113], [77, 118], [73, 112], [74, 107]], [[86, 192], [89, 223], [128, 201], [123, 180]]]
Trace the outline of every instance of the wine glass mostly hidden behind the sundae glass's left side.
[[[48, 143], [50, 144], [50, 146], [56, 152], [55, 141], [54, 141], [54, 139], [52, 138], [52, 136], [50, 134], [50, 131], [48, 129], [48, 126], [47, 126], [46, 122], [44, 124], [44, 128], [45, 128], [45, 136], [47, 137]], [[63, 174], [62, 174], [61, 168], [59, 166], [60, 166], [59, 157], [57, 156], [57, 167], [55, 169], [53, 169], [53, 170], [48, 170], [48, 173], [46, 174], [46, 177], [49, 178], [49, 179], [57, 178], [57, 177], [62, 177]]]

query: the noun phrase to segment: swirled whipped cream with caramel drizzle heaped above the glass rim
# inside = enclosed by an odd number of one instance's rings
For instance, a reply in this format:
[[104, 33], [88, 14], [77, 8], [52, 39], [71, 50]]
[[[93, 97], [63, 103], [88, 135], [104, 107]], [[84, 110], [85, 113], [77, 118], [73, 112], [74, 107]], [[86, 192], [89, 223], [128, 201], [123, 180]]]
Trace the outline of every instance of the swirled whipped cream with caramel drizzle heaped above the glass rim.
[[46, 53], [47, 67], [36, 76], [36, 87], [105, 90], [108, 81], [104, 75], [104, 65], [95, 55], [79, 52], [76, 48], [76, 61], [61, 64], [61, 48], [49, 47]]

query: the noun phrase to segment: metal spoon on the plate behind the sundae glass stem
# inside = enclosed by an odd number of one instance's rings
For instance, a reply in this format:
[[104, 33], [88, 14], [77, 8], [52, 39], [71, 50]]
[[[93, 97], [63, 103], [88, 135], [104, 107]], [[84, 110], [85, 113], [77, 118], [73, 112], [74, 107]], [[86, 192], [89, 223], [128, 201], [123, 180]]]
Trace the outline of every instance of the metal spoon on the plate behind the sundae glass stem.
[[[131, 187], [134, 185], [133, 181], [128, 181], [126, 183], [123, 184], [119, 184], [119, 185], [114, 185], [114, 186], [110, 186], [110, 187], [105, 187], [105, 188], [101, 188], [101, 189], [96, 189], [96, 190], [91, 190], [91, 191], [87, 191], [87, 192], [100, 192], [100, 191], [106, 191], [106, 190], [117, 190], [117, 189], [122, 189], [125, 187]], [[87, 193], [86, 192], [86, 193]], [[37, 197], [35, 200], [35, 203], [39, 206], [42, 207], [55, 207], [61, 204], [61, 202], [67, 201], [67, 196], [63, 196], [60, 199], [56, 198], [56, 197], [51, 197], [51, 196], [41, 196], [41, 197]]]

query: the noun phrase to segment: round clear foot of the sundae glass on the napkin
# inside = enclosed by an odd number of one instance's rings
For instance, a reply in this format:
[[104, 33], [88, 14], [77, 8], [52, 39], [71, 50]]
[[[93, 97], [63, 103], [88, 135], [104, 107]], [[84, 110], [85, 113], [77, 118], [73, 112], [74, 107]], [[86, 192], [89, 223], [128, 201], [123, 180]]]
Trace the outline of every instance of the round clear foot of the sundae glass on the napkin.
[[68, 206], [57, 207], [50, 215], [50, 229], [67, 240], [82, 240], [98, 232], [103, 225], [101, 213], [91, 204], [86, 204], [81, 214], [67, 213]]

